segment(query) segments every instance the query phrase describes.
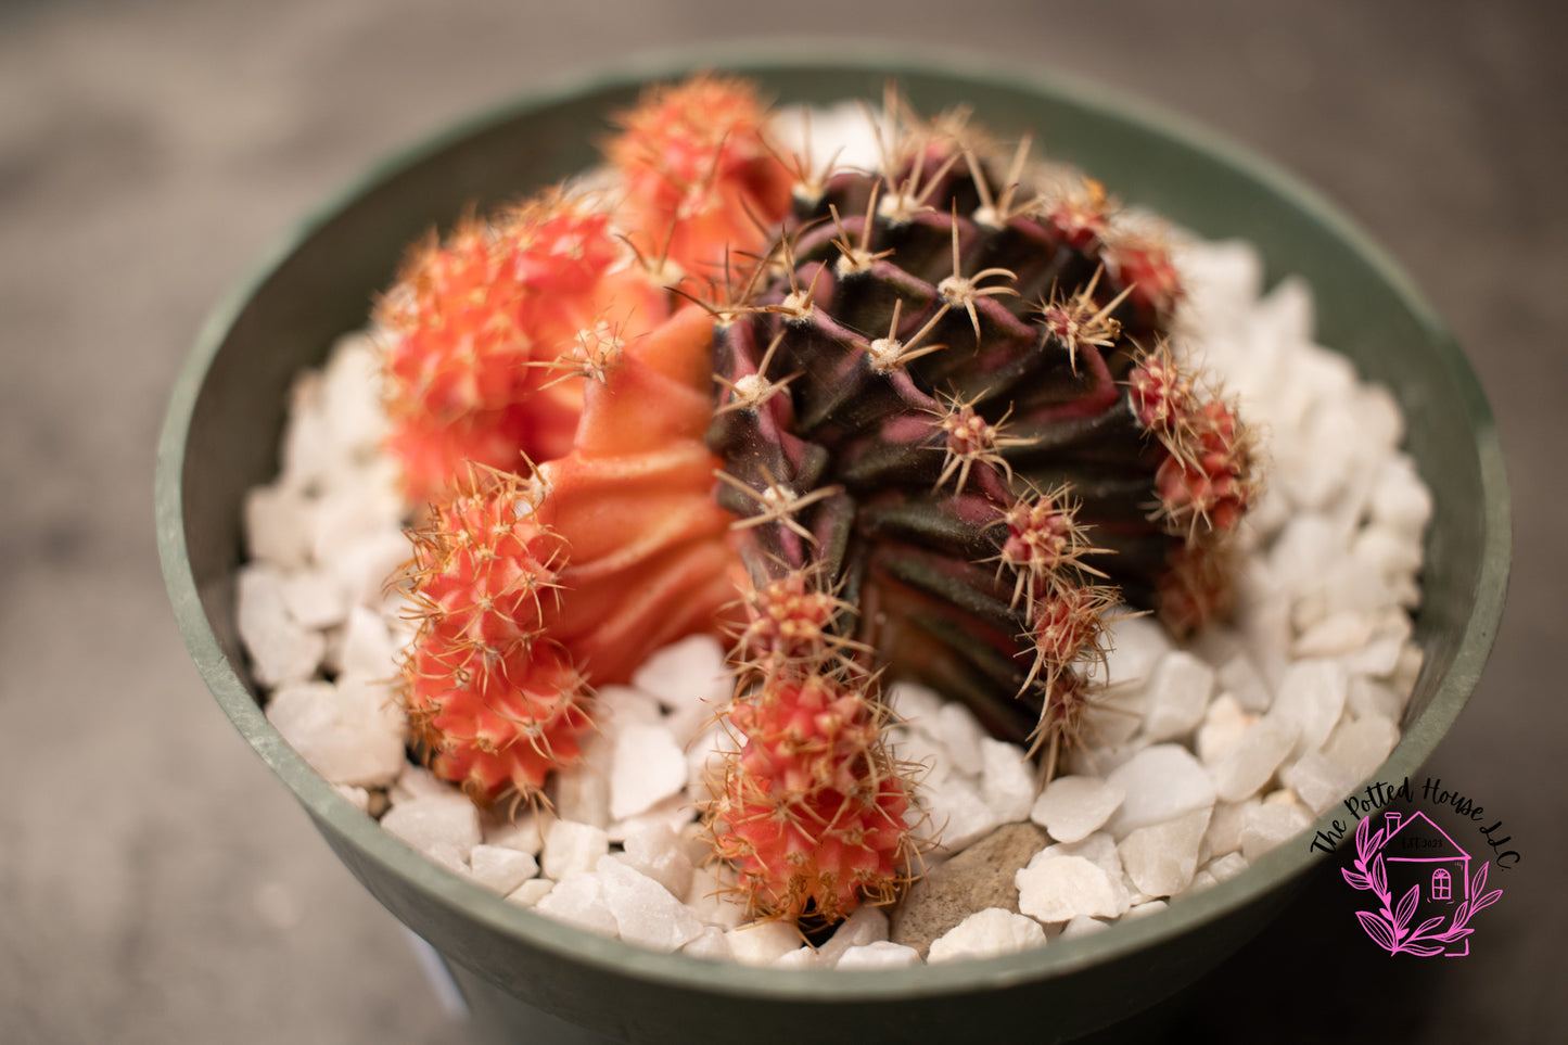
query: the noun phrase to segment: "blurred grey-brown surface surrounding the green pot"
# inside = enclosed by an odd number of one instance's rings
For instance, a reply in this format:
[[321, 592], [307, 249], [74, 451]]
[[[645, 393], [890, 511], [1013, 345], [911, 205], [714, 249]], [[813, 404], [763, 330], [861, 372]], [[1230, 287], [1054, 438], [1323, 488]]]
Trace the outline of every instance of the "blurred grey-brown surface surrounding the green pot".
[[[770, 33], [960, 47], [1152, 96], [1322, 188], [1414, 275], [1499, 413], [1515, 499], [1504, 628], [1428, 769], [1504, 817], [1523, 863], [1463, 962], [1317, 932], [1344, 902], [1319, 882], [1323, 902], [1165, 1021], [1220, 1042], [1568, 1040], [1563, 11], [0, 3], [0, 1042], [466, 1040], [185, 654], [154, 549], [166, 394], [224, 287], [383, 154], [552, 77]], [[1294, 1031], [1261, 1031], [1281, 1015]]]

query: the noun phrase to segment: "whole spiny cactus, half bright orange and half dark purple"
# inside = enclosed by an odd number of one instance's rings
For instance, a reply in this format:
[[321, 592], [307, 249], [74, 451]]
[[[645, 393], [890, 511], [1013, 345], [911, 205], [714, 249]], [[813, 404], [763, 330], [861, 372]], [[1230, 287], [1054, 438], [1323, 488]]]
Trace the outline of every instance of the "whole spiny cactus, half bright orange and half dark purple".
[[739, 80], [660, 88], [619, 188], [411, 254], [379, 309], [389, 450], [433, 502], [405, 703], [439, 775], [536, 799], [593, 686], [729, 634], [713, 850], [753, 915], [831, 923], [919, 847], [886, 679], [1052, 772], [1112, 615], [1225, 610], [1258, 480], [1171, 347], [1165, 246], [1096, 182], [892, 96], [875, 171], [767, 119]]

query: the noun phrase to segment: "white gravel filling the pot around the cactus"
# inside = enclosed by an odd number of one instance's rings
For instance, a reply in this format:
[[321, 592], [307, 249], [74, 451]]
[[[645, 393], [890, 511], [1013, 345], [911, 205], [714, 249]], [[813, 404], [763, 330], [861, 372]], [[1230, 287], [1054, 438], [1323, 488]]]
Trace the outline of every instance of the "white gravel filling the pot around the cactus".
[[[815, 132], [840, 116], [818, 116]], [[894, 687], [898, 753], [928, 767], [919, 800], [939, 828], [930, 865], [1007, 822], [1032, 819], [1052, 839], [1016, 869], [1022, 913], [972, 913], [931, 946], [933, 962], [1051, 935], [1062, 946], [1118, 916], [1157, 916], [1163, 901], [1308, 830], [1399, 739], [1421, 665], [1408, 610], [1432, 497], [1397, 449], [1397, 405], [1316, 344], [1303, 282], [1261, 295], [1262, 264], [1245, 243], [1184, 243], [1178, 264], [1184, 330], [1204, 331], [1184, 350], [1225, 377], [1272, 461], [1240, 533], [1237, 620], [1187, 648], [1148, 618], [1115, 621], [1096, 741], [1044, 792], [1022, 752], [986, 737], [964, 708]], [[820, 951], [790, 926], [739, 924], [721, 896], [729, 872], [704, 866], [695, 824], [702, 767], [724, 744], [710, 719], [729, 695], [712, 639], [676, 643], [632, 686], [602, 692], [602, 734], [552, 783], [554, 814], [481, 816], [408, 763], [386, 686], [411, 634], [386, 588], [408, 543], [376, 452], [376, 381], [362, 334], [303, 375], [282, 472], [245, 502], [238, 628], [284, 737], [408, 844], [591, 932], [750, 965], [917, 962], [887, 941], [881, 912]]]

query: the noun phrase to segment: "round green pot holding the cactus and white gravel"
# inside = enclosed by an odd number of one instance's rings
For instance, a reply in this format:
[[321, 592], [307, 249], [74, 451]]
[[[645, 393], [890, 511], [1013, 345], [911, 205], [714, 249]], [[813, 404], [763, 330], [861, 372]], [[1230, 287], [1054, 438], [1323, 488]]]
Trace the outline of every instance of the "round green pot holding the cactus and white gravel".
[[[853, 56], [850, 56], [853, 53]], [[375, 169], [326, 206], [220, 304], [180, 373], [158, 452], [163, 573], [218, 703], [397, 918], [459, 971], [470, 998], [519, 1025], [528, 1006], [632, 1042], [1058, 1040], [1168, 996], [1258, 934], [1316, 860], [1287, 844], [1170, 910], [1011, 957], [878, 973], [707, 963], [604, 940], [458, 879], [339, 797], [268, 725], [235, 634], [240, 505], [268, 482], [290, 378], [365, 322], [403, 245], [464, 204], [480, 210], [591, 163], [607, 113], [691, 67], [760, 80], [781, 102], [878, 97], [889, 75], [922, 111], [964, 102], [999, 135], [1033, 129], [1052, 157], [1207, 237], [1245, 237], [1269, 278], [1300, 273], [1323, 344], [1394, 389], [1408, 449], [1433, 488], [1425, 665], [1405, 734], [1378, 778], [1413, 774], [1475, 686], [1502, 612], [1508, 497], [1480, 386], [1410, 279], [1314, 191], [1181, 119], [1099, 89], [906, 50], [820, 46], [687, 55], [532, 96]], [[1348, 929], [1347, 929], [1348, 930]], [[1016, 1037], [1014, 1037], [1016, 1036]], [[524, 1040], [524, 1039], [519, 1039]], [[535, 1039], [538, 1040], [538, 1039]]]

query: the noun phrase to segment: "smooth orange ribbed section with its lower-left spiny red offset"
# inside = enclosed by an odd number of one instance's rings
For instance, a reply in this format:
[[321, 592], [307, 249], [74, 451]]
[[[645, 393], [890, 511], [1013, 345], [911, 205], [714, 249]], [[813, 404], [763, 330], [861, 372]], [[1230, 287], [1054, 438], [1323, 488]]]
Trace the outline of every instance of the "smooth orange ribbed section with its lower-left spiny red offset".
[[577, 442], [530, 479], [478, 471], [411, 533], [420, 631], [405, 705], [431, 769], [535, 797], [588, 730], [588, 683], [712, 629], [734, 599], [713, 504], [709, 325], [688, 308], [588, 386]]

